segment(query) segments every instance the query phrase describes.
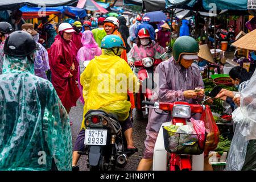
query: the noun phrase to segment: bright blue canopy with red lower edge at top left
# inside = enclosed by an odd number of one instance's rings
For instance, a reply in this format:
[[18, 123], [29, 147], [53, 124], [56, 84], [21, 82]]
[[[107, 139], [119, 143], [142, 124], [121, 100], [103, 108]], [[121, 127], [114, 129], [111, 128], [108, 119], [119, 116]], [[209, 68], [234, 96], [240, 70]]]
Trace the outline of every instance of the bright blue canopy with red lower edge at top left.
[[46, 7], [43, 9], [42, 7], [23, 6], [19, 10], [22, 11], [22, 17], [24, 19], [40, 18], [42, 16], [59, 13], [64, 13], [78, 18], [84, 18], [86, 16], [86, 11], [84, 9], [79, 9], [72, 6]]

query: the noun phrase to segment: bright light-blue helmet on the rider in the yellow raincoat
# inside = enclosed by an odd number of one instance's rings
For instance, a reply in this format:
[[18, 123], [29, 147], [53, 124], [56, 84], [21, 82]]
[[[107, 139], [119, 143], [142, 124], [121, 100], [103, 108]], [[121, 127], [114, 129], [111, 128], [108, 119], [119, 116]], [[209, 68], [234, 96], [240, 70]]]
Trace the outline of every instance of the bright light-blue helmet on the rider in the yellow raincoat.
[[107, 35], [102, 39], [101, 48], [111, 49], [114, 47], [122, 47], [126, 49], [126, 47], [123, 45], [122, 39], [117, 35]]

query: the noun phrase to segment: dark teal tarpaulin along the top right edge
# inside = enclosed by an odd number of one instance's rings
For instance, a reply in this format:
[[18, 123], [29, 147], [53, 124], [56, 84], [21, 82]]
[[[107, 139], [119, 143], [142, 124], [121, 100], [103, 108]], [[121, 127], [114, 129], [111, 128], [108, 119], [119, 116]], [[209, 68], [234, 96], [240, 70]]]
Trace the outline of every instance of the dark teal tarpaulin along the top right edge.
[[250, 5], [250, 0], [166, 0], [166, 8], [180, 8], [192, 10], [248, 10], [256, 9]]

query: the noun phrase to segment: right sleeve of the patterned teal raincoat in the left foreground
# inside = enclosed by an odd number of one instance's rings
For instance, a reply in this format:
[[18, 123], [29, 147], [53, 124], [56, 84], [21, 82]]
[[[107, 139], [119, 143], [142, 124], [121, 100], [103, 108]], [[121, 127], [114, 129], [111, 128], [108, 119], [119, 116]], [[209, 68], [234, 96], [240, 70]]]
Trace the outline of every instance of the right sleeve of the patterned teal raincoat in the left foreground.
[[55, 89], [52, 89], [49, 97], [49, 106], [52, 112], [49, 113], [48, 118], [54, 117], [54, 122], [48, 123], [46, 140], [48, 148], [50, 149], [52, 158], [55, 161], [57, 170], [67, 171], [71, 170], [72, 166], [72, 137], [69, 124], [68, 113], [61, 104]]

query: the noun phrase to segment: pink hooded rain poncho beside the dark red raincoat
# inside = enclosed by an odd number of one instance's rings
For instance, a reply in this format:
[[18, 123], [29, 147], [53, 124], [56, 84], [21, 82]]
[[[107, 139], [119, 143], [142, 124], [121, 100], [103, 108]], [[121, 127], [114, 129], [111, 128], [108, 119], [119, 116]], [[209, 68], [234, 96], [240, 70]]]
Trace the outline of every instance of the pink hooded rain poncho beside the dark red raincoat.
[[82, 71], [84, 71], [84, 65], [82, 65], [82, 63], [84, 61], [90, 61], [94, 59], [94, 56], [100, 56], [101, 48], [98, 47], [98, 44], [93, 38], [92, 32], [89, 30], [86, 30], [82, 33], [81, 43], [83, 47], [81, 47], [77, 52], [76, 59], [79, 63], [78, 82], [81, 93], [81, 102], [84, 104], [84, 98], [82, 97], [82, 86], [80, 83], [80, 75], [82, 74]]

